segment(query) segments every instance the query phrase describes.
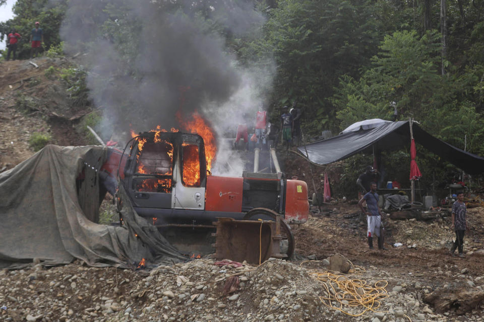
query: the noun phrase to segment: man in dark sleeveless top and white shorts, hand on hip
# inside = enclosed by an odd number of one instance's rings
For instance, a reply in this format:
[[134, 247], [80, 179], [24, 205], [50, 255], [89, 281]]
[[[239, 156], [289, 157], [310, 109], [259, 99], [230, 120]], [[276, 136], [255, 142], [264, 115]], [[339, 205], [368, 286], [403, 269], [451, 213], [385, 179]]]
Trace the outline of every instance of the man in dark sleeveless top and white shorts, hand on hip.
[[[365, 211], [363, 207], [363, 202], [367, 202], [368, 211]], [[377, 194], [377, 184], [372, 182], [370, 184], [370, 192], [365, 194], [359, 201], [358, 206], [362, 212], [365, 212], [367, 215], [367, 222], [368, 222], [368, 246], [370, 249], [373, 249], [373, 236], [377, 235], [378, 237], [378, 249], [379, 250], [386, 250], [383, 247], [383, 235], [381, 231], [381, 223], [382, 223], [382, 212], [380, 207], [378, 207], [378, 194]]]

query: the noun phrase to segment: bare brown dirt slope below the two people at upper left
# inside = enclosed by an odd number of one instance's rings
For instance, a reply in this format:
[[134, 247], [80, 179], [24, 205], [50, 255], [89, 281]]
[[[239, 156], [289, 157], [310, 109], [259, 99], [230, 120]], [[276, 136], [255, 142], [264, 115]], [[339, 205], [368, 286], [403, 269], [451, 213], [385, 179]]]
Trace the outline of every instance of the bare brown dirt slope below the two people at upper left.
[[[0, 63], [0, 170], [11, 169], [34, 151], [33, 133], [50, 137], [57, 145], [85, 145], [73, 129], [91, 112], [85, 101], [73, 99], [61, 75], [77, 68], [66, 58], [14, 60]], [[73, 67], [74, 66], [74, 67]]]

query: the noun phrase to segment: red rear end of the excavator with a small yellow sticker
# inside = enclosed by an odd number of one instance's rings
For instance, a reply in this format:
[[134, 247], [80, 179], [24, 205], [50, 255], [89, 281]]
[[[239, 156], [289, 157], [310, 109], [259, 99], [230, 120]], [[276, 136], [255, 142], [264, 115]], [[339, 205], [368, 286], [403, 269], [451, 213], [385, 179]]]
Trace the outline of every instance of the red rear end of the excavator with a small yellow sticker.
[[308, 216], [308, 185], [300, 180], [287, 180], [284, 221], [287, 223], [304, 223], [308, 220]]

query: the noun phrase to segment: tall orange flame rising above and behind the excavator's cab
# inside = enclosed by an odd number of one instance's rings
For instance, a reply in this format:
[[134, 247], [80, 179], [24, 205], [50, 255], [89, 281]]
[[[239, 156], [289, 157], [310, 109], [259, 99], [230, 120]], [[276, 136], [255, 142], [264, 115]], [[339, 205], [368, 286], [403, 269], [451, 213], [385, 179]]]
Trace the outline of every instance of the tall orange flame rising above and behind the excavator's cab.
[[178, 122], [181, 124], [181, 126], [184, 127], [184, 129], [190, 131], [190, 133], [196, 133], [203, 138], [203, 141], [205, 143], [205, 158], [207, 159], [207, 170], [210, 171], [212, 169], [212, 163], [214, 161], [215, 154], [217, 153], [217, 145], [215, 144], [215, 135], [213, 129], [210, 127], [207, 121], [197, 112], [192, 115], [192, 121], [184, 122], [180, 113], [177, 113], [176, 117], [178, 118]]

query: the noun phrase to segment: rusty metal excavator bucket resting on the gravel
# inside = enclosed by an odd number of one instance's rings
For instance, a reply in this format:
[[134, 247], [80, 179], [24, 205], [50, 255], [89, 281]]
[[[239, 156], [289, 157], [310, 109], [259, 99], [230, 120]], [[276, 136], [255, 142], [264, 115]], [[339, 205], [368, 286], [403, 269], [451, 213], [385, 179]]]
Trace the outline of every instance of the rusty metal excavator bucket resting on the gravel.
[[213, 224], [216, 259], [230, 259], [236, 262], [247, 261], [259, 264], [270, 257], [287, 258], [280, 254], [280, 217], [272, 220], [235, 220], [218, 218]]

